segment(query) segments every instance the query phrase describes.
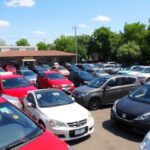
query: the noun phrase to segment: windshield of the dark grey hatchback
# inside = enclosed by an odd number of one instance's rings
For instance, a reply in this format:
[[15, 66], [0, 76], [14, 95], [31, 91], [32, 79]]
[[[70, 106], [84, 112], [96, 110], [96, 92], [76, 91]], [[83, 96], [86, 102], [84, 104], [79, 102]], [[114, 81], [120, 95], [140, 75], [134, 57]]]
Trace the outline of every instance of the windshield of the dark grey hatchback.
[[93, 88], [99, 88], [101, 87], [108, 79], [104, 77], [99, 77], [93, 81], [91, 81], [88, 86]]

